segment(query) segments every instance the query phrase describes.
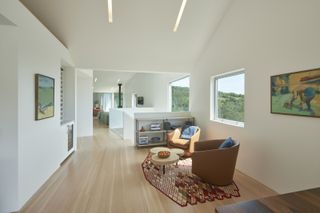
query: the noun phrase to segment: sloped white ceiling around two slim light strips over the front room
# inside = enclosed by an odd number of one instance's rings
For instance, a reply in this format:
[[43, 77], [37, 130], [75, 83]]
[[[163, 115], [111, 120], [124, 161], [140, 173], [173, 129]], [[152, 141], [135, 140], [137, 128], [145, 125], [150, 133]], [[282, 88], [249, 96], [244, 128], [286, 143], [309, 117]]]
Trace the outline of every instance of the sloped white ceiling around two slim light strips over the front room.
[[21, 0], [69, 48], [77, 67], [190, 72], [232, 0]]

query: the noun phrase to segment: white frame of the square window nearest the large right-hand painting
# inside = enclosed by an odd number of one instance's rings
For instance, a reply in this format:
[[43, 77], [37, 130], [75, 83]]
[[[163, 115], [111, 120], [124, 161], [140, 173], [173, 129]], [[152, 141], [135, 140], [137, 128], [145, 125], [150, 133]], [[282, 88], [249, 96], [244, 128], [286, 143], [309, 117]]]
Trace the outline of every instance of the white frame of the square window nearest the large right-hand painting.
[[[241, 68], [241, 69], [233, 70], [230, 72], [211, 76], [211, 78], [210, 78], [210, 120], [211, 121], [244, 128], [245, 121], [241, 122], [241, 121], [229, 120], [229, 119], [224, 119], [224, 118], [218, 117], [219, 114], [218, 114], [217, 97], [218, 97], [218, 80], [222, 79], [222, 78], [240, 75], [240, 74], [244, 74], [244, 85], [243, 86], [244, 86], [244, 96], [245, 96], [245, 94], [246, 94], [246, 92], [245, 92], [245, 81], [246, 81], [245, 71], [246, 70], [244, 68]], [[244, 100], [245, 100], [245, 98], [244, 98]]]

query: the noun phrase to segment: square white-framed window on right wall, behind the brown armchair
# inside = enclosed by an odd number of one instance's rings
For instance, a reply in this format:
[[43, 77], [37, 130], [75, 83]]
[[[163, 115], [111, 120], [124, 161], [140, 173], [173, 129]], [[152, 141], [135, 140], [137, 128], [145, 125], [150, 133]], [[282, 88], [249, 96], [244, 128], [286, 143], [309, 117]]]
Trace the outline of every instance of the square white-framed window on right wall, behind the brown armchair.
[[211, 120], [244, 127], [244, 69], [211, 77]]

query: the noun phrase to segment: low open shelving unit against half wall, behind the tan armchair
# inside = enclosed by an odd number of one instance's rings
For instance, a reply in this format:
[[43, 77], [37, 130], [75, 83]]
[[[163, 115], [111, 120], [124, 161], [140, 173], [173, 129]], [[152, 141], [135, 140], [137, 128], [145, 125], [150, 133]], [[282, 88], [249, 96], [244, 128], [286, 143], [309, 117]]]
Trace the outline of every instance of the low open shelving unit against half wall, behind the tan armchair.
[[[194, 125], [193, 117], [170, 117], [165, 119], [142, 118], [135, 119], [137, 147], [163, 146], [167, 145], [167, 133], [173, 129], [182, 127], [186, 123]], [[156, 126], [155, 130], [152, 126]]]

